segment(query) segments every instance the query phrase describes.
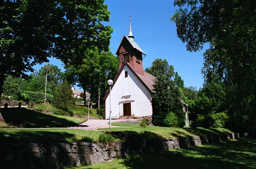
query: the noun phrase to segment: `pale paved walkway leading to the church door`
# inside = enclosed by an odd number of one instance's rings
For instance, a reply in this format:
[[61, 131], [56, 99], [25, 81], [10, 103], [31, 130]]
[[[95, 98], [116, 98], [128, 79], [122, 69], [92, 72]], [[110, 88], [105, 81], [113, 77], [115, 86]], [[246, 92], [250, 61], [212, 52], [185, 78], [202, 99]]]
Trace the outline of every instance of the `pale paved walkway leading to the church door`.
[[[136, 121], [137, 119], [117, 119], [112, 120], [111, 122], [121, 122], [121, 121]], [[109, 120], [87, 120], [86, 122], [76, 126], [76, 127], [68, 127], [71, 129], [84, 129], [84, 130], [96, 130], [96, 129], [102, 129], [102, 128], [109, 128], [108, 124]], [[119, 127], [119, 126], [113, 126], [112, 127]]]

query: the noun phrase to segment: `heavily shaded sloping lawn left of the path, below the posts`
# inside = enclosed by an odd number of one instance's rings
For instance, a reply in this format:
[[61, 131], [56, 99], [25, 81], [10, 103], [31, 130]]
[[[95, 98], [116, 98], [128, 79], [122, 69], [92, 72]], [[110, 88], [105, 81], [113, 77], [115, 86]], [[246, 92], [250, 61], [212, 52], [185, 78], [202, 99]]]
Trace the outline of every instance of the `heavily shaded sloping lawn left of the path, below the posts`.
[[2, 127], [70, 127], [85, 121], [84, 118], [39, 113], [26, 108], [21, 108], [21, 111], [19, 108], [1, 108], [1, 113], [5, 120], [5, 123], [0, 124]]

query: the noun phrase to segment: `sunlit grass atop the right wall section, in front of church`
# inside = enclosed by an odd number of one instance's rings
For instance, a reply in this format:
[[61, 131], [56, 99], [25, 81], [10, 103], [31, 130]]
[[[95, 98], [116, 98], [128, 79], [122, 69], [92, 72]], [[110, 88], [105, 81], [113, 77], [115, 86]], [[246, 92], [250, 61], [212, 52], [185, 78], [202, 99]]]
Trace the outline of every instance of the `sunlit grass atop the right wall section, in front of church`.
[[201, 136], [208, 134], [224, 134], [232, 133], [232, 131], [224, 128], [178, 128], [178, 127], [159, 127], [147, 125], [146, 128], [140, 127], [138, 124], [123, 124], [123, 123], [112, 123], [115, 126], [122, 126], [117, 128], [106, 128], [102, 129], [105, 131], [126, 131], [128, 134], [138, 135], [145, 138], [176, 138], [186, 136]]

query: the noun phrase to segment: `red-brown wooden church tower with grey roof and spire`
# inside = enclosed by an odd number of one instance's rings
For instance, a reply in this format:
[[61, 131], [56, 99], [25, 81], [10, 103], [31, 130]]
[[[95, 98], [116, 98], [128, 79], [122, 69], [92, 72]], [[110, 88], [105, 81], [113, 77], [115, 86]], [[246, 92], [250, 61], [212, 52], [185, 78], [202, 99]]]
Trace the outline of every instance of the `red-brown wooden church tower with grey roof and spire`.
[[143, 70], [142, 56], [146, 56], [146, 54], [134, 41], [134, 36], [132, 35], [131, 19], [128, 36], [124, 35], [115, 54], [118, 55], [120, 58], [119, 69], [122, 67], [123, 64], [126, 63], [129, 64], [135, 72], [145, 76]]

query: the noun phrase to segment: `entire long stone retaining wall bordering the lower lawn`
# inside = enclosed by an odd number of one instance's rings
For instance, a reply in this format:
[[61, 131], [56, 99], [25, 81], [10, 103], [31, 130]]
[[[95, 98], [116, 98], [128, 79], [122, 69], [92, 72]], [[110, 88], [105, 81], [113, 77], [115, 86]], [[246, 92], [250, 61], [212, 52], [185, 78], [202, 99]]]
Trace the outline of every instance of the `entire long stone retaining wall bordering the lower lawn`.
[[[126, 132], [108, 132], [123, 142], [109, 144], [72, 143], [72, 144], [0, 144], [0, 168], [12, 169], [62, 169], [78, 165], [89, 165], [126, 157], [130, 149], [145, 153], [161, 153], [168, 149], [186, 148], [211, 143], [219, 143], [228, 139], [239, 138], [239, 134], [225, 133], [204, 136], [187, 136], [178, 138], [148, 137]], [[130, 146], [129, 144], [130, 143]]]

